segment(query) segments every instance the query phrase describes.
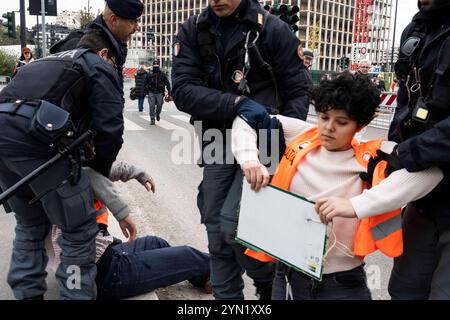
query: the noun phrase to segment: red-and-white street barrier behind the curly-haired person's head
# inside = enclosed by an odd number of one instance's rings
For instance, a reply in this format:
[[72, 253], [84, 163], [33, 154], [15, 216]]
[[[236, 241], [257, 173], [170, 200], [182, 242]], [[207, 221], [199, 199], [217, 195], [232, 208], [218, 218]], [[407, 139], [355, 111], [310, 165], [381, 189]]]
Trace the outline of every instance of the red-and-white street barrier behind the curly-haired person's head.
[[[381, 104], [378, 107], [377, 115], [372, 122], [369, 123], [369, 127], [389, 130], [389, 126], [394, 118], [395, 108], [397, 107], [397, 93], [382, 92], [380, 98]], [[317, 116], [317, 113], [312, 105], [309, 106], [308, 116]], [[308, 119], [308, 121], [315, 122], [315, 119]]]

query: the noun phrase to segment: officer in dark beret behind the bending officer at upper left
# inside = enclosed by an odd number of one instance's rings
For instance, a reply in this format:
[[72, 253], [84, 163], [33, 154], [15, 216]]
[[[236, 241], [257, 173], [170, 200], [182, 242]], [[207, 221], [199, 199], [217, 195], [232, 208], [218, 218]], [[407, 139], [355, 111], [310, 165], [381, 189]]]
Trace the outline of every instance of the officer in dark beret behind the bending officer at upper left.
[[55, 43], [50, 53], [72, 50], [76, 48], [84, 33], [91, 29], [98, 29], [105, 33], [117, 56], [117, 73], [123, 88], [123, 65], [127, 59], [127, 42], [131, 35], [139, 29], [139, 17], [144, 5], [139, 0], [106, 0], [103, 14], [82, 30], [72, 31], [66, 38]]

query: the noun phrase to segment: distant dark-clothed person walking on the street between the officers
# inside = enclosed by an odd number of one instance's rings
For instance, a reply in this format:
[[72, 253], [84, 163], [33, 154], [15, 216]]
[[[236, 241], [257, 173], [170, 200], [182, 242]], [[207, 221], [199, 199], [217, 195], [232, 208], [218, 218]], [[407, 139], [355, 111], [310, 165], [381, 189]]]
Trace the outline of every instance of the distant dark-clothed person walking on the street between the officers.
[[150, 108], [150, 125], [160, 120], [161, 109], [164, 103], [164, 93], [167, 88], [168, 96], [171, 96], [170, 82], [164, 72], [161, 71], [158, 61], [153, 61], [152, 72], [146, 79], [146, 90], [148, 91], [148, 105]]

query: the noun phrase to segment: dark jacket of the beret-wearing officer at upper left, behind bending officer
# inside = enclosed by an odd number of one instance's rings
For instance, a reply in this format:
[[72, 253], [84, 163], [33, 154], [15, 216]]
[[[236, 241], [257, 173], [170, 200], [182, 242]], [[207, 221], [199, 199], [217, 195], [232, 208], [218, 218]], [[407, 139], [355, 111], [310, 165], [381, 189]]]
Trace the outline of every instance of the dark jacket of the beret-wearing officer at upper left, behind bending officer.
[[[116, 65], [117, 65], [117, 73], [119, 75], [120, 79], [120, 87], [121, 91], [123, 91], [123, 65], [125, 64], [125, 60], [127, 59], [127, 44], [123, 43], [122, 41], [116, 39], [114, 35], [109, 31], [108, 27], [106, 26], [105, 21], [103, 20], [103, 16], [99, 15], [97, 18], [95, 18], [94, 21], [92, 21], [90, 24], [88, 24], [84, 29], [81, 30], [74, 30], [72, 31], [67, 37], [64, 39], [58, 41], [50, 48], [50, 53], [54, 54], [57, 52], [67, 51], [75, 49], [78, 45], [78, 42], [80, 41], [81, 37], [89, 31], [89, 29], [100, 29], [102, 30], [110, 40], [112, 46], [114, 47], [114, 50], [116, 52]], [[122, 92], [123, 96], [123, 92]]]

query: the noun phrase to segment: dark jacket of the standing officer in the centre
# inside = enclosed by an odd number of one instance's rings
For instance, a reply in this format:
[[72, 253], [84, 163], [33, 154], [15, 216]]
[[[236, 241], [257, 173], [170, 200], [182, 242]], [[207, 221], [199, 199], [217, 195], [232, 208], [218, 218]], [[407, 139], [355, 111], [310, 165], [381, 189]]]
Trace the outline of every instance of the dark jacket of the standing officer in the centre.
[[[246, 8], [238, 18], [238, 26], [223, 48], [218, 31], [219, 20], [210, 9], [206, 9], [200, 15], [190, 17], [178, 33], [172, 71], [173, 98], [177, 108], [191, 114], [194, 119], [204, 120], [204, 129], [231, 128], [236, 116], [235, 99], [241, 95], [231, 77], [235, 70], [242, 69], [247, 32], [256, 30], [259, 32], [257, 46], [263, 59], [273, 68], [281, 103], [276, 105], [273, 81], [256, 63], [247, 77], [252, 89], [249, 96], [273, 113], [278, 111], [305, 119], [309, 107], [308, 79], [297, 55], [300, 41], [288, 25], [268, 14], [256, 0], [247, 0]], [[214, 41], [211, 55], [214, 59], [205, 61], [200, 54], [199, 33], [202, 32], [203, 38], [205, 35], [200, 29], [208, 29], [208, 36]], [[259, 83], [259, 88], [254, 87], [255, 83]]]

